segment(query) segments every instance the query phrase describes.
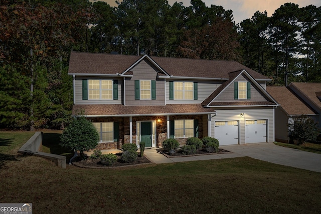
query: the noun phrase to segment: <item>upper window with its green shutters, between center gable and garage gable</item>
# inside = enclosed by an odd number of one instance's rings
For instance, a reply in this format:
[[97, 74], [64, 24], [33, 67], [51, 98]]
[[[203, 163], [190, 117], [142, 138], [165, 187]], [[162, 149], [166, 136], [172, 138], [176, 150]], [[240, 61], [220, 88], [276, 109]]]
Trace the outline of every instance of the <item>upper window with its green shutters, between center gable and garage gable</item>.
[[197, 100], [197, 82], [170, 82], [170, 100]]

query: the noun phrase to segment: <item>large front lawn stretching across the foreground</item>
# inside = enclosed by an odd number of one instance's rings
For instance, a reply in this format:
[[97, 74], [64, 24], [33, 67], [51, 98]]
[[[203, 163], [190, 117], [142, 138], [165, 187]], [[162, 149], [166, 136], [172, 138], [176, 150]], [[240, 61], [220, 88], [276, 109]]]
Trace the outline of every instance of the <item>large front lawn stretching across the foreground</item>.
[[319, 213], [321, 208], [321, 173], [249, 157], [62, 169], [44, 158], [16, 155], [0, 165], [0, 177], [0, 203], [31, 202], [35, 213]]

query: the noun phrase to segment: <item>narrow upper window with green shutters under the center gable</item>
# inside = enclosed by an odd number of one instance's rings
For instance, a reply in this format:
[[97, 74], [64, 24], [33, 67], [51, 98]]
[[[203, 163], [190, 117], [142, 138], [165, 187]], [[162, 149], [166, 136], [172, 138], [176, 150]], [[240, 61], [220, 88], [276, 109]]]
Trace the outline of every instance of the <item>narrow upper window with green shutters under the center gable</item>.
[[155, 100], [155, 80], [135, 80], [135, 100]]

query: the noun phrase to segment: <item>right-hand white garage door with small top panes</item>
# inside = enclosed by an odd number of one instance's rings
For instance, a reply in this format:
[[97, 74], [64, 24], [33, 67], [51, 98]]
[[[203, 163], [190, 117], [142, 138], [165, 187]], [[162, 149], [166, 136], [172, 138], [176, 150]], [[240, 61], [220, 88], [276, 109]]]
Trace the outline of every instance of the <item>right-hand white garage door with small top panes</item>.
[[245, 143], [266, 142], [266, 120], [247, 120], [245, 122]]

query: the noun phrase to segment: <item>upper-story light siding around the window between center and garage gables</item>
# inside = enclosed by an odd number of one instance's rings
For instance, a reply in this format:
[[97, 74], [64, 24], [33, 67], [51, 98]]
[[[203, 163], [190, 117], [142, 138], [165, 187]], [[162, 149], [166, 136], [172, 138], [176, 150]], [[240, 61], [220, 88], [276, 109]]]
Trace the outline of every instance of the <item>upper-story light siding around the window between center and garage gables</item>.
[[[198, 99], [197, 100], [170, 100], [170, 81], [178, 82], [197, 82]], [[166, 81], [166, 104], [201, 104], [208, 98], [222, 83], [217, 81], [205, 80], [169, 80]]]

